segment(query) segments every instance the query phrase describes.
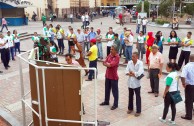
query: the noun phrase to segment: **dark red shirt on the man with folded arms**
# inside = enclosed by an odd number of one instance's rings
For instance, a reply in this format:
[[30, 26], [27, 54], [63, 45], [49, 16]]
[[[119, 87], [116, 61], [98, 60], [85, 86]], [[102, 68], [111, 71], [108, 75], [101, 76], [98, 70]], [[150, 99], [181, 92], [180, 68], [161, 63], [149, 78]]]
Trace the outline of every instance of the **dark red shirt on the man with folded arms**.
[[111, 80], [118, 80], [118, 73], [117, 73], [117, 69], [119, 66], [119, 61], [120, 61], [120, 57], [118, 54], [116, 54], [115, 56], [112, 56], [111, 54], [109, 54], [106, 57], [106, 60], [104, 61], [105, 63], [109, 63], [111, 67], [107, 67], [106, 69], [106, 74], [105, 77]]

